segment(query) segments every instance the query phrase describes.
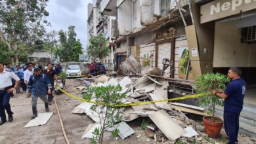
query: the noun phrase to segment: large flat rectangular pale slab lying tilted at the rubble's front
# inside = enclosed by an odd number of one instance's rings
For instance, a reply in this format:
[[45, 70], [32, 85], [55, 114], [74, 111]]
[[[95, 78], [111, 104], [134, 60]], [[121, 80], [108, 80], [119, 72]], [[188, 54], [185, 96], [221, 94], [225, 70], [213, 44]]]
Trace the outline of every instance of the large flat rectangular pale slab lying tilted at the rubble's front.
[[186, 134], [186, 131], [179, 124], [176, 124], [163, 110], [157, 111], [149, 115], [149, 117], [170, 141], [175, 141], [175, 139]]

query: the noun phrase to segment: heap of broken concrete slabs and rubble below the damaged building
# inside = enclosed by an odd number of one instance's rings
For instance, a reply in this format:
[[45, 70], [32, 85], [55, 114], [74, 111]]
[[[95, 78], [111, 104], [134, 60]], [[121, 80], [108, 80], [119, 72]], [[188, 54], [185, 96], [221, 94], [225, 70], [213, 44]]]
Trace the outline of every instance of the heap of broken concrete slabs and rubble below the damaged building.
[[[119, 124], [121, 139], [125, 139], [129, 135], [133, 135], [135, 131], [126, 122], [131, 122], [139, 117], [149, 117], [152, 121], [151, 126], [147, 126], [145, 133], [154, 141], [201, 141], [199, 133], [204, 130], [202, 124], [189, 119], [184, 115], [186, 113], [194, 113], [197, 115], [205, 115], [202, 107], [193, 105], [185, 105], [182, 103], [171, 103], [169, 101], [161, 101], [156, 103], [141, 103], [144, 101], [159, 101], [168, 99], [169, 82], [166, 79], [152, 77], [151, 75], [159, 75], [160, 69], [147, 69], [142, 72], [142, 77], [108, 77], [102, 75], [96, 78], [91, 86], [117, 86], [120, 84], [122, 93], [127, 95], [123, 103], [140, 103], [139, 105], [131, 105], [123, 110], [123, 122]], [[88, 83], [88, 82], [87, 82]], [[79, 89], [82, 89], [80, 87]], [[97, 126], [100, 126], [98, 114], [90, 109], [91, 103], [81, 103], [74, 108], [71, 113], [86, 113], [95, 124], [91, 124], [85, 130], [83, 138], [92, 137], [92, 132]], [[108, 131], [108, 130], [107, 130]]]

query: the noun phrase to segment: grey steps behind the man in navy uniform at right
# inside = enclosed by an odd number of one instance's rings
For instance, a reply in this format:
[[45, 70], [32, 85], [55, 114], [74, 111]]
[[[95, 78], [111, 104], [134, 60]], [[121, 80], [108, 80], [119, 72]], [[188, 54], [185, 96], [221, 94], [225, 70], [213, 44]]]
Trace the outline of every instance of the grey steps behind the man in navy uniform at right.
[[[223, 107], [216, 107], [216, 113], [223, 117]], [[256, 137], [256, 105], [245, 103], [239, 120], [239, 132], [251, 137]]]

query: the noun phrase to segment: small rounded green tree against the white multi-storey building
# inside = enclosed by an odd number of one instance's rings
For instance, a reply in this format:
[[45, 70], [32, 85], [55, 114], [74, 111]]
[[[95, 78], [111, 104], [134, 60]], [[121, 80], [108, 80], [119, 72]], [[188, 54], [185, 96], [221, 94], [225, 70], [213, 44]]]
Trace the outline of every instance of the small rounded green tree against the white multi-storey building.
[[102, 61], [104, 57], [110, 54], [111, 50], [108, 46], [108, 41], [101, 35], [91, 37], [89, 42], [90, 45], [87, 48], [87, 54], [89, 56], [100, 58], [100, 61]]

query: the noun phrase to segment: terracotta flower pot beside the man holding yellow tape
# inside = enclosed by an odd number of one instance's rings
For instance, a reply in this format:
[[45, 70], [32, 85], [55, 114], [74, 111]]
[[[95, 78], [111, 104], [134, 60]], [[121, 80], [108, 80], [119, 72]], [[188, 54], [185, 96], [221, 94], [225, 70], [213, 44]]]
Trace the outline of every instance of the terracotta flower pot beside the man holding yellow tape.
[[221, 118], [215, 118], [215, 122], [212, 121], [212, 116], [203, 117], [203, 123], [205, 126], [205, 133], [214, 139], [220, 136], [221, 128], [223, 127], [223, 120]]

